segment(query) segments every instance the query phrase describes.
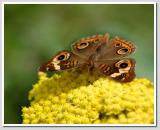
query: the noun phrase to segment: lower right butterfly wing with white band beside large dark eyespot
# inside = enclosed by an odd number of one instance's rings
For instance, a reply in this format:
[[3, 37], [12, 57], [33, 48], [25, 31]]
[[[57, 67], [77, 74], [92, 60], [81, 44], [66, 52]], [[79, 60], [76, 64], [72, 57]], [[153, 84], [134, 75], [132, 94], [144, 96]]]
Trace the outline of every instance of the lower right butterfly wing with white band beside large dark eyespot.
[[95, 62], [94, 66], [101, 73], [120, 82], [130, 82], [135, 77], [135, 60], [131, 58]]

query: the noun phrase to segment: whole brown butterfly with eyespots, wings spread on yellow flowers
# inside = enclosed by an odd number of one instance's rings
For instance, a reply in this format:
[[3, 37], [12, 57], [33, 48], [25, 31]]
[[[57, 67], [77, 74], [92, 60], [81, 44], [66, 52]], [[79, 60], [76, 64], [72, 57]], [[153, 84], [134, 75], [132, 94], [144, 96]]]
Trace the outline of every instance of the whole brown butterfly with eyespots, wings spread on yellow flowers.
[[82, 38], [71, 46], [72, 51], [58, 52], [40, 71], [61, 71], [88, 66], [119, 82], [130, 82], [135, 78], [133, 58], [127, 58], [135, 51], [131, 41], [118, 36], [109, 39], [109, 34]]

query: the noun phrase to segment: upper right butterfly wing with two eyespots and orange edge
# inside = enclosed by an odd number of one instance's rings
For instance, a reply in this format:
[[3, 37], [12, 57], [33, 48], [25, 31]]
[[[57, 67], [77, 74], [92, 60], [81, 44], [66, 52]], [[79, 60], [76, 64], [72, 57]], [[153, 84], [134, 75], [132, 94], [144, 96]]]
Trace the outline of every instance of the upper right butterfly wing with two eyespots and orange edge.
[[95, 57], [95, 61], [105, 61], [124, 58], [135, 51], [135, 46], [130, 41], [114, 37], [108, 43], [103, 44]]

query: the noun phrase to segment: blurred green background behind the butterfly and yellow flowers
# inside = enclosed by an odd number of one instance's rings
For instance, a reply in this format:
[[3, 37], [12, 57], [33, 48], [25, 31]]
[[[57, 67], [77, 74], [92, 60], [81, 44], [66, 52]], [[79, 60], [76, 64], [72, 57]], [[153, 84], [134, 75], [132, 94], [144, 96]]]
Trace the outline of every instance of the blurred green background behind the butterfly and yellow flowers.
[[21, 108], [38, 67], [72, 42], [109, 32], [136, 45], [137, 77], [154, 80], [154, 6], [5, 5], [5, 123], [21, 123]]

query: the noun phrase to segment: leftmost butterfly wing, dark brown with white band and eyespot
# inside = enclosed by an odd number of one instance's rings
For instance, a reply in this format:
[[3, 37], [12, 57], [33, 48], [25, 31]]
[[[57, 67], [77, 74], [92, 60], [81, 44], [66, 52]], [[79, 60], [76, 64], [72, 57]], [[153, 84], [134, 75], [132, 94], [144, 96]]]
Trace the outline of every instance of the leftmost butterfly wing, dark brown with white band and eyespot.
[[85, 65], [86, 61], [69, 51], [61, 51], [40, 67], [40, 71], [61, 71]]

